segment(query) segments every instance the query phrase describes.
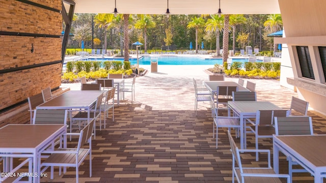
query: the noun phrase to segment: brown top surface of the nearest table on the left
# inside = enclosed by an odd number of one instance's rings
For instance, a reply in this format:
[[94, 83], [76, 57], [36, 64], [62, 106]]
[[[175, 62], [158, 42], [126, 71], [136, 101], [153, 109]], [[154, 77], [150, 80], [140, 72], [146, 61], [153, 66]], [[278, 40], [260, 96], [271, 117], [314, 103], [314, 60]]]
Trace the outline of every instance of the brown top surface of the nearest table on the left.
[[0, 149], [37, 148], [51, 135], [66, 131], [65, 125], [16, 125], [10, 124], [0, 129]]

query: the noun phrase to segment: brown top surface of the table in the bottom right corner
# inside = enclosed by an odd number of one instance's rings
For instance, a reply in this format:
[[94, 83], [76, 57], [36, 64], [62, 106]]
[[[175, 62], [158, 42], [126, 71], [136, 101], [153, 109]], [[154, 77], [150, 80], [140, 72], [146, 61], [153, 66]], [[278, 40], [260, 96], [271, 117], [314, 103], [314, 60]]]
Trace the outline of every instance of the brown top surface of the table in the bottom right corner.
[[326, 135], [274, 135], [273, 139], [282, 143], [295, 158], [301, 160], [301, 156], [315, 167], [326, 167]]

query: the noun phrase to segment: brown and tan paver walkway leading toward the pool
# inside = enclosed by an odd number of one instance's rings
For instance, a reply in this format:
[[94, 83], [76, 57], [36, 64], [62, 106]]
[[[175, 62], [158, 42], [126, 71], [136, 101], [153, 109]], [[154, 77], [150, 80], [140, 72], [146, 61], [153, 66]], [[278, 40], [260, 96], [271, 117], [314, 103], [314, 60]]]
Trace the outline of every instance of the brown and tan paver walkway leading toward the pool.
[[[108, 117], [106, 129], [97, 131], [93, 140], [93, 176], [89, 177], [89, 162], [79, 169], [79, 182], [231, 182], [232, 156], [227, 129], [219, 130], [219, 149], [212, 138], [212, 118], [208, 103], [199, 103], [194, 112], [193, 78], [208, 80], [204, 72], [209, 66], [160, 66], [158, 73], [138, 77], [135, 102], [122, 101], [115, 107], [115, 121]], [[226, 80], [237, 81], [236, 78]], [[257, 100], [271, 101], [289, 107], [292, 90], [280, 87], [276, 80], [256, 82]], [[245, 83], [246, 84], [246, 83]], [[67, 84], [63, 84], [67, 86]], [[80, 84], [70, 84], [79, 89]], [[125, 95], [131, 99], [130, 94]], [[325, 133], [325, 116], [309, 111], [315, 133]], [[98, 129], [98, 128], [97, 128]], [[235, 139], [239, 143], [239, 139]], [[73, 146], [75, 141], [69, 142]], [[248, 138], [254, 148], [255, 139]], [[260, 140], [260, 147], [271, 149], [271, 139]], [[285, 157], [281, 171], [287, 172]], [[243, 164], [265, 166], [255, 155], [243, 157]], [[272, 161], [273, 162], [273, 161]], [[75, 182], [75, 169], [53, 182]], [[49, 178], [42, 178], [42, 182]], [[310, 174], [293, 177], [293, 182], [313, 182]]]

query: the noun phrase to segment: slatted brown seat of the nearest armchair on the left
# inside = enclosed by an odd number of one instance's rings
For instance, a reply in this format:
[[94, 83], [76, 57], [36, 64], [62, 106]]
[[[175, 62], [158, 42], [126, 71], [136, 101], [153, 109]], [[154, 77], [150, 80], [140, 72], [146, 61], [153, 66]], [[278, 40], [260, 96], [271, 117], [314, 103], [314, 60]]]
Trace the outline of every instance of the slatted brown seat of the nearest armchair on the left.
[[[58, 151], [67, 151], [67, 153], [51, 154], [43, 163], [42, 166], [72, 166], [76, 165], [76, 149], [73, 148], [59, 148]], [[68, 153], [71, 151], [71, 153]], [[90, 149], [79, 149], [78, 161], [83, 162], [86, 156], [89, 154]], [[79, 163], [78, 163], [79, 164]]]

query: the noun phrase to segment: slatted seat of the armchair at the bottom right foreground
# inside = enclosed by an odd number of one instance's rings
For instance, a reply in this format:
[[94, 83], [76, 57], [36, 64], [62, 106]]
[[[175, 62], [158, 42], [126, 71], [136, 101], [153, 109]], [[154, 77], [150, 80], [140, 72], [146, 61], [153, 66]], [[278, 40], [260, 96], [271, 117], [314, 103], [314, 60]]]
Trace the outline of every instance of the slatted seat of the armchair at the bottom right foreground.
[[[273, 169], [270, 168], [242, 168], [243, 174], [275, 174], [275, 171]], [[241, 177], [240, 174], [240, 169], [236, 169], [236, 174]], [[257, 182], [257, 183], [261, 183], [261, 182], [279, 182], [281, 183], [282, 181], [280, 180], [280, 178], [278, 177], [255, 177], [255, 176], [250, 176], [250, 177], [244, 177], [244, 182]]]

